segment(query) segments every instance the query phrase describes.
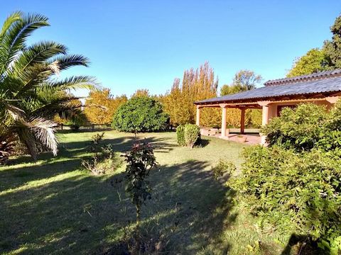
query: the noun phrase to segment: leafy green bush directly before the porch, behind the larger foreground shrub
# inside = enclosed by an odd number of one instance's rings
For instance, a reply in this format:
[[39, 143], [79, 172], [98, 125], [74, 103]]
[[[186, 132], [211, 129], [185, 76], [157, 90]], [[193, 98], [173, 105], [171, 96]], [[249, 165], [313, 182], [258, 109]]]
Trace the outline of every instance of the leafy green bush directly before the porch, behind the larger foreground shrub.
[[326, 111], [324, 106], [306, 103], [296, 109], [284, 108], [263, 128], [269, 146], [279, 145], [297, 152], [314, 147], [330, 150], [341, 145], [341, 107]]

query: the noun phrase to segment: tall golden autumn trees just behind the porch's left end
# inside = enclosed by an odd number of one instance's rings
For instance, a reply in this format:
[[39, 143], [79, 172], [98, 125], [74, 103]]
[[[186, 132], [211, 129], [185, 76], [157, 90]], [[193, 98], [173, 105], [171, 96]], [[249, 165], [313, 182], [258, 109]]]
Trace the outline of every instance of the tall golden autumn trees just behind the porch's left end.
[[[208, 62], [198, 69], [185, 70], [183, 80], [175, 79], [171, 91], [161, 97], [172, 125], [195, 123], [195, 101], [217, 96], [218, 80]], [[217, 108], [203, 108], [201, 125], [220, 125], [221, 111]]]

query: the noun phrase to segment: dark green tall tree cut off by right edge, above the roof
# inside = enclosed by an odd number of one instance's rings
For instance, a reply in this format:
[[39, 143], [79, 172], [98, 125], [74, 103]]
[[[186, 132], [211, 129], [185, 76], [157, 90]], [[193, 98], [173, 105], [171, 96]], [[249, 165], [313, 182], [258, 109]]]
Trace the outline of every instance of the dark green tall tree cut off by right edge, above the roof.
[[330, 32], [332, 32], [332, 40], [325, 40], [323, 49], [332, 69], [337, 69], [341, 68], [341, 16], [335, 19]]

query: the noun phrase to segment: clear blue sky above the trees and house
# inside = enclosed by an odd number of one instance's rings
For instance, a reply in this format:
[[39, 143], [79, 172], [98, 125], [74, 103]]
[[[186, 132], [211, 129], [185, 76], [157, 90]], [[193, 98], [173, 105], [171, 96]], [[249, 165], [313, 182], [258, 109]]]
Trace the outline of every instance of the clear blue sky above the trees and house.
[[295, 57], [331, 38], [340, 0], [5, 0], [12, 11], [42, 13], [51, 26], [32, 40], [63, 42], [90, 58], [67, 74], [97, 77], [112, 94], [148, 89], [161, 94], [184, 69], [205, 61], [220, 86], [239, 69], [267, 79], [284, 77]]

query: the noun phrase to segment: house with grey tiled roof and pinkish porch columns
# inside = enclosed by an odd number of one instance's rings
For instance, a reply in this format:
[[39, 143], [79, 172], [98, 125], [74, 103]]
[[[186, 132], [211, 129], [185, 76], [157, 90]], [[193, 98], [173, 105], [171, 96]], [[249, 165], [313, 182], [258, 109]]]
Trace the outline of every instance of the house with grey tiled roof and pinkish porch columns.
[[[237, 94], [220, 96], [195, 102], [197, 106], [196, 124], [200, 126], [200, 109], [204, 107], [222, 108], [221, 138], [227, 137], [226, 109], [241, 111], [240, 132], [244, 133], [245, 110], [262, 109], [262, 125], [281, 114], [284, 107], [294, 107], [298, 103], [316, 103], [331, 108], [341, 96], [341, 69], [301, 75], [298, 77], [266, 81], [263, 87]], [[265, 137], [261, 137], [261, 144]]]

